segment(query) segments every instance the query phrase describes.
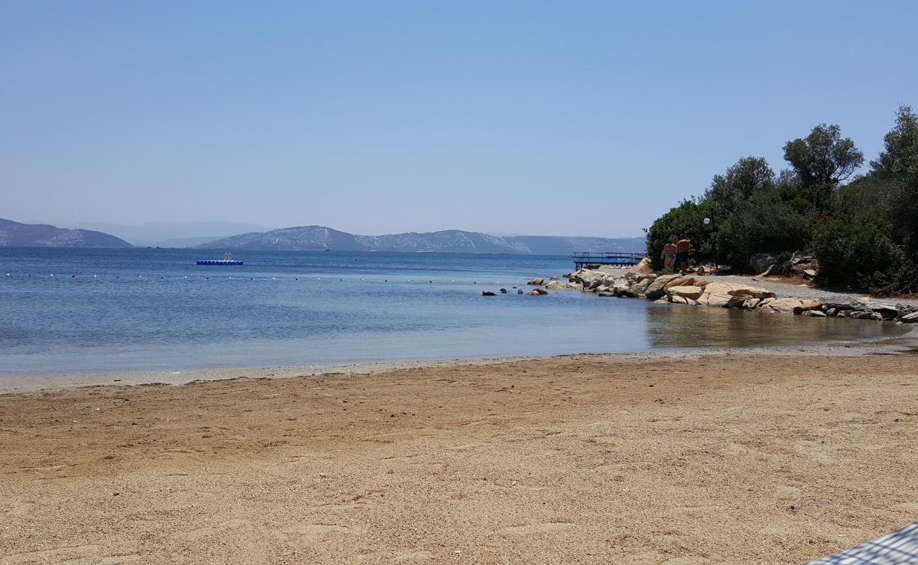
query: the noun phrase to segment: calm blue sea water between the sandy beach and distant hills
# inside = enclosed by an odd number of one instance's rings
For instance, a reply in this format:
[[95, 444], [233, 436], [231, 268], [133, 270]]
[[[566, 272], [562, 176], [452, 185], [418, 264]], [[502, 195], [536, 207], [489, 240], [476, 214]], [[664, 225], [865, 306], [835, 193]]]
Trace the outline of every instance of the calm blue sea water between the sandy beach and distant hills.
[[[0, 375], [322, 367], [857, 340], [882, 323], [518, 296], [567, 257], [0, 248]], [[482, 297], [481, 291], [510, 293]], [[528, 288], [527, 288], [528, 289]]]

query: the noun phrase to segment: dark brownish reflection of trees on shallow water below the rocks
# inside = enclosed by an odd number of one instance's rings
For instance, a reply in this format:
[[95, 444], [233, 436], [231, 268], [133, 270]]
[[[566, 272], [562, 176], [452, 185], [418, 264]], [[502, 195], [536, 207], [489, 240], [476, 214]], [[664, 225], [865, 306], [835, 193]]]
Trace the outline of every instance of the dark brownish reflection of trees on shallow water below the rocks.
[[647, 309], [646, 324], [648, 345], [653, 348], [852, 342], [898, 337], [909, 329], [891, 322], [663, 304]]

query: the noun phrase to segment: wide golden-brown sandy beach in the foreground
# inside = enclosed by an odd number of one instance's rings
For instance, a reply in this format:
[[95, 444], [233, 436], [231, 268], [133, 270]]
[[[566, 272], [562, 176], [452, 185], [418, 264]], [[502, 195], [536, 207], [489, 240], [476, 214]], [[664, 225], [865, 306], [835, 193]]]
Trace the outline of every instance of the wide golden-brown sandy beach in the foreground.
[[918, 519], [916, 367], [571, 356], [10, 393], [0, 563], [800, 563]]

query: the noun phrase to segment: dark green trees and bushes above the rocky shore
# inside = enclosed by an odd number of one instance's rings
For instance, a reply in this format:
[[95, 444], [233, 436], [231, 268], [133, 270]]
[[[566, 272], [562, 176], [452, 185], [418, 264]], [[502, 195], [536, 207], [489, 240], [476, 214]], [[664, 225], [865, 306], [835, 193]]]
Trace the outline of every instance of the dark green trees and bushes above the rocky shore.
[[[662, 266], [663, 246], [688, 235], [695, 259], [749, 269], [755, 254], [812, 252], [833, 287], [879, 294], [918, 292], [918, 115], [900, 107], [884, 150], [864, 175], [864, 155], [835, 125], [820, 124], [784, 145], [779, 175], [744, 157], [699, 198], [670, 209], [647, 231]], [[706, 225], [704, 219], [709, 218]]]

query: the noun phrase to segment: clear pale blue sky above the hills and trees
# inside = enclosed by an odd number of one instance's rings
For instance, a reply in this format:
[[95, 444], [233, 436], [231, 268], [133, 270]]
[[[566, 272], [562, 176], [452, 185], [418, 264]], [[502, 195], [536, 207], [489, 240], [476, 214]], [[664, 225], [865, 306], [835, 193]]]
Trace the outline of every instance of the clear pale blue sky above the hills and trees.
[[[918, 3], [0, 0], [0, 218], [624, 237], [918, 107]], [[204, 234], [207, 235], [207, 234]]]

